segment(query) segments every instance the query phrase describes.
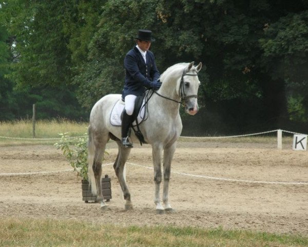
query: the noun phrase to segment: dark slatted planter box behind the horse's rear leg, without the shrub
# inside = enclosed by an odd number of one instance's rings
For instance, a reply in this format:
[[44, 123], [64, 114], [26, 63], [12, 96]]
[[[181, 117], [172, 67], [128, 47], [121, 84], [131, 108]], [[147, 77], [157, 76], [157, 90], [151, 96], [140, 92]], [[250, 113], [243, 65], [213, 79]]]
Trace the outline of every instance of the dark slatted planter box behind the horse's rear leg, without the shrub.
[[[111, 199], [111, 181], [108, 175], [105, 175], [105, 178], [102, 178], [102, 192], [104, 199], [106, 202], [109, 202]], [[94, 196], [91, 191], [91, 185], [88, 181], [82, 180], [81, 181], [81, 188], [82, 188], [82, 200], [85, 203], [90, 201], [97, 202], [97, 196]]]

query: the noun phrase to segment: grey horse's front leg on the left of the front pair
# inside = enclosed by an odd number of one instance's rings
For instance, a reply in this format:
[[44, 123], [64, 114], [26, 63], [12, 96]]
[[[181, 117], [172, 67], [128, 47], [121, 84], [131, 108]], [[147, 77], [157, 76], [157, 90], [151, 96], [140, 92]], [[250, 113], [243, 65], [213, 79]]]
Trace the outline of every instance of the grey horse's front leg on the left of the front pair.
[[156, 205], [156, 212], [158, 214], [164, 213], [164, 207], [160, 200], [160, 184], [162, 182], [162, 171], [161, 171], [161, 154], [162, 147], [160, 145], [152, 146], [152, 158], [154, 166], [154, 182], [155, 182], [155, 199], [154, 203]]

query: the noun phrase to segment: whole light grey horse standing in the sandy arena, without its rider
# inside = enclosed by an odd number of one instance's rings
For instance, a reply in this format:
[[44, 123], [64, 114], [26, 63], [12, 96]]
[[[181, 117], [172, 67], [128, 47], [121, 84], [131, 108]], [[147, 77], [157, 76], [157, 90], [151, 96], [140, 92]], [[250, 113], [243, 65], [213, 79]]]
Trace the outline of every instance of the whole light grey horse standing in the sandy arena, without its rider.
[[[163, 82], [158, 91], [155, 91], [148, 101], [147, 120], [141, 122], [140, 130], [145, 141], [152, 146], [152, 160], [154, 166], [155, 199], [157, 213], [172, 212], [168, 200], [169, 178], [171, 161], [176, 150], [176, 141], [182, 132], [182, 120], [179, 114], [181, 103], [185, 111], [195, 115], [198, 110], [198, 88], [200, 81], [198, 72], [202, 63], [194, 66], [191, 63], [178, 63], [170, 66], [161, 75]], [[113, 168], [118, 177], [125, 199], [125, 209], [132, 209], [130, 193], [125, 181], [124, 166], [131, 149], [121, 145], [121, 127], [110, 123], [110, 114], [115, 102], [121, 99], [120, 94], [109, 94], [96, 102], [90, 113], [88, 128], [88, 178], [92, 192], [102, 209], [107, 208], [101, 188], [102, 160], [108, 140], [111, 138], [118, 144], [118, 155]], [[133, 131], [132, 142], [139, 142]], [[163, 175], [161, 157], [163, 154]], [[163, 204], [160, 199], [160, 184], [163, 183]]]

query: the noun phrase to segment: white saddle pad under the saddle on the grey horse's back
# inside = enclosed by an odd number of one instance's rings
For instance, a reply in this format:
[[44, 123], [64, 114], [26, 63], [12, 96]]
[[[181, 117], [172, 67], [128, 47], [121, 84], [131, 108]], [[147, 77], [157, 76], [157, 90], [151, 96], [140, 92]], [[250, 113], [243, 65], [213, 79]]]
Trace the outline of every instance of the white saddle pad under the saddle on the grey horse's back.
[[[138, 117], [137, 117], [138, 124], [146, 119], [147, 113], [145, 111], [145, 105], [144, 105], [145, 103], [144, 102], [145, 102], [145, 100], [143, 99], [142, 106], [141, 106], [141, 109], [140, 109]], [[115, 102], [115, 104], [113, 105], [111, 114], [110, 114], [111, 125], [113, 125], [113, 126], [121, 126], [122, 125], [121, 114], [123, 112], [124, 106], [125, 106], [125, 104], [121, 99], [119, 99], [117, 102]], [[135, 126], [136, 121], [133, 121], [132, 125]]]

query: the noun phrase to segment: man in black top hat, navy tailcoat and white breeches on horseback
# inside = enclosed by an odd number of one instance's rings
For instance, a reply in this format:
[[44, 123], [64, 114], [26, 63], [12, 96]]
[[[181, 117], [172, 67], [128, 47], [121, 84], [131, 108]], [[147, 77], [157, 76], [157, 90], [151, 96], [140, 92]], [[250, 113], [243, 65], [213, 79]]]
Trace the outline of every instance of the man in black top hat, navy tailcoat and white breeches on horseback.
[[137, 96], [143, 95], [147, 89], [158, 90], [161, 86], [160, 73], [156, 67], [155, 57], [149, 50], [152, 32], [146, 29], [138, 30], [137, 45], [129, 50], [124, 59], [125, 82], [122, 99], [125, 102], [125, 110], [122, 116], [122, 145], [132, 148], [128, 139], [128, 130], [132, 122], [134, 102]]

